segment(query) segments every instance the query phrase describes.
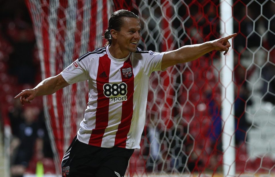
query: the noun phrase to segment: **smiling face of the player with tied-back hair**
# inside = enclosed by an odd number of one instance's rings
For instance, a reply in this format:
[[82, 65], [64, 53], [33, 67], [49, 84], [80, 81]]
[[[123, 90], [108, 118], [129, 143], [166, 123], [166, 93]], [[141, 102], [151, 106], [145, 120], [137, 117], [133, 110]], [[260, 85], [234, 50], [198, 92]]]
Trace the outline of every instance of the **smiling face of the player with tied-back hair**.
[[141, 39], [141, 25], [139, 19], [123, 17], [120, 31], [116, 31], [116, 40], [122, 52], [135, 52]]

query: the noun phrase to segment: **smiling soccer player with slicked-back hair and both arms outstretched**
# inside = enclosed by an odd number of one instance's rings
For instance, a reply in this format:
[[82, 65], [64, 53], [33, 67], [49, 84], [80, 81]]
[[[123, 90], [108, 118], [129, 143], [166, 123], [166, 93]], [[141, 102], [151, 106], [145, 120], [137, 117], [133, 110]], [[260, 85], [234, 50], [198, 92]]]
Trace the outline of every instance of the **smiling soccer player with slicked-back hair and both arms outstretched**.
[[114, 12], [104, 34], [106, 46], [87, 52], [60, 74], [15, 96], [24, 105], [36, 96], [88, 80], [88, 106], [62, 159], [63, 176], [124, 176], [134, 149], [140, 148], [151, 73], [212, 50], [225, 51], [225, 55], [228, 40], [237, 35], [159, 53], [137, 47], [140, 32], [138, 16], [123, 9]]

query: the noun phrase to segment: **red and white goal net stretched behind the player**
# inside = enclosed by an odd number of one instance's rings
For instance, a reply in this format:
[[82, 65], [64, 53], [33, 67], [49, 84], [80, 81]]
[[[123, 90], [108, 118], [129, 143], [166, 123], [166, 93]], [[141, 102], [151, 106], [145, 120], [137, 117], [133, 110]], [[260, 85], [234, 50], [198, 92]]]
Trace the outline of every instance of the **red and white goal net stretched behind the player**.
[[[125, 176], [274, 174], [275, 164], [275, 2], [221, 1], [229, 4], [238, 33], [221, 65], [219, 51], [151, 75], [141, 149]], [[39, 49], [42, 79], [60, 73], [85, 52], [104, 45], [108, 19], [118, 9], [139, 15], [139, 47], [157, 52], [214, 40], [228, 28], [221, 2], [201, 0], [26, 0]], [[221, 82], [228, 68], [233, 85]], [[225, 77], [225, 76], [223, 76]], [[44, 96], [44, 112], [59, 174], [60, 161], [75, 137], [87, 105], [87, 83], [69, 85]], [[233, 116], [233, 133], [224, 131]], [[142, 129], [143, 127], [141, 127]], [[226, 147], [222, 139], [233, 142]], [[232, 163], [225, 151], [234, 149]]]

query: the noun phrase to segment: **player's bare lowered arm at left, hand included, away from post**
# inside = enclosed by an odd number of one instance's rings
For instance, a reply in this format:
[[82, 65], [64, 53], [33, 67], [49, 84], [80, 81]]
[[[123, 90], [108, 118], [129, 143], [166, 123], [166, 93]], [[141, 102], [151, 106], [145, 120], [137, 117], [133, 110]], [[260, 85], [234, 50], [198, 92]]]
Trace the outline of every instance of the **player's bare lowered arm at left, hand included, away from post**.
[[20, 102], [22, 105], [24, 105], [25, 103], [30, 103], [30, 101], [33, 100], [36, 96], [53, 94], [57, 90], [68, 85], [70, 84], [64, 80], [61, 74], [58, 74], [54, 77], [44, 79], [33, 89], [22, 90], [22, 92], [14, 98], [16, 99], [20, 97]]

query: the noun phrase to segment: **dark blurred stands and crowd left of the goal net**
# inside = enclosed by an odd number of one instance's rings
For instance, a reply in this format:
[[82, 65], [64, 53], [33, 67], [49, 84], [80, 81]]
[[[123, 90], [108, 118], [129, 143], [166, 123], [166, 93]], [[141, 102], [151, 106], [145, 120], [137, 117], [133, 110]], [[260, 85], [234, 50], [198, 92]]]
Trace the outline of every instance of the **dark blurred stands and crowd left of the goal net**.
[[[13, 99], [21, 90], [34, 87], [41, 81], [40, 61], [28, 9], [22, 0], [0, 1], [0, 4], [1, 130], [10, 127], [10, 144], [5, 145], [9, 147], [10, 174], [21, 177], [34, 173], [38, 162], [44, 166], [50, 164], [52, 168], [53, 155], [42, 98], [26, 106]], [[48, 172], [55, 173], [55, 170]]]

